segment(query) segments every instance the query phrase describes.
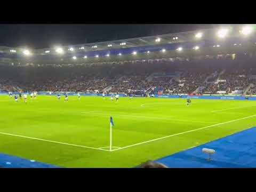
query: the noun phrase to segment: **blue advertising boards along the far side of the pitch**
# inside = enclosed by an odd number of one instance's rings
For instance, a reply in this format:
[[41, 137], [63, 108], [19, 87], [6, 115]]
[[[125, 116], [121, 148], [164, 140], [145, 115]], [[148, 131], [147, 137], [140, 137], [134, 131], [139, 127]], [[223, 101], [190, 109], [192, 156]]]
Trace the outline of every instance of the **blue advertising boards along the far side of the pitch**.
[[[77, 95], [75, 92], [58, 92], [61, 94], [68, 93], [68, 95]], [[0, 92], [0, 94], [8, 94], [7, 92]], [[13, 92], [13, 94], [19, 94], [18, 92]], [[39, 95], [49, 95], [49, 92], [38, 92]], [[56, 95], [56, 93], [52, 93], [53, 96]], [[97, 93], [80, 93], [81, 96], [97, 96], [102, 97], [102, 94]], [[106, 97], [110, 97], [111, 94], [105, 94]], [[119, 94], [120, 97], [125, 97], [124, 93]], [[142, 97], [142, 95], [133, 95], [133, 97]], [[150, 97], [153, 97], [150, 95]], [[154, 98], [180, 98], [180, 99], [221, 99], [221, 100], [256, 100], [256, 97], [244, 97], [244, 96], [223, 96], [223, 95], [169, 95], [169, 94], [163, 94], [163, 95], [154, 95]]]

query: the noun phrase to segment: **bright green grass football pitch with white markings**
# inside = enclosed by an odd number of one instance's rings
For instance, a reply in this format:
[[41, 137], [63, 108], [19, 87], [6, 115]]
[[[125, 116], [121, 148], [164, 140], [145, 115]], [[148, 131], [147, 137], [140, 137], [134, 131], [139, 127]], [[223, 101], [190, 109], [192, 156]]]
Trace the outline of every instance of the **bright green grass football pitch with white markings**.
[[250, 100], [2, 95], [0, 109], [0, 153], [61, 167], [134, 167], [256, 125]]

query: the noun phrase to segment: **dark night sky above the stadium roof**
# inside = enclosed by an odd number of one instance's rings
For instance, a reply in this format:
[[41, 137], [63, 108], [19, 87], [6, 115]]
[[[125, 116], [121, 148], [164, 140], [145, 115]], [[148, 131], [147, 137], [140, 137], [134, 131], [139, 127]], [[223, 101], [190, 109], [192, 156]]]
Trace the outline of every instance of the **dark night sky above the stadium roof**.
[[0, 24], [1, 46], [46, 48], [178, 33], [218, 24]]

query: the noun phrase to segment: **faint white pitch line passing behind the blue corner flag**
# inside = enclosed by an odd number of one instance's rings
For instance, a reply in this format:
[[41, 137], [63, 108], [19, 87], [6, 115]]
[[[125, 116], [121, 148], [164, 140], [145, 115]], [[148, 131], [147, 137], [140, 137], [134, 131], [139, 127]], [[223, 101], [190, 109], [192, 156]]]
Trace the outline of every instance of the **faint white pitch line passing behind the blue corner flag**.
[[[107, 113], [92, 113], [92, 112], [81, 112], [81, 113], [89, 113], [95, 115], [108, 115]], [[195, 123], [219, 123], [219, 122], [204, 122], [204, 121], [193, 121], [193, 120], [186, 120], [186, 119], [174, 119], [174, 118], [162, 118], [162, 117], [149, 117], [149, 116], [134, 116], [134, 115], [121, 115], [115, 114], [115, 116], [124, 116], [124, 117], [134, 117], [134, 118], [148, 118], [148, 119], [160, 119], [160, 120], [173, 120], [173, 121], [182, 121], [182, 122], [195, 122]]]

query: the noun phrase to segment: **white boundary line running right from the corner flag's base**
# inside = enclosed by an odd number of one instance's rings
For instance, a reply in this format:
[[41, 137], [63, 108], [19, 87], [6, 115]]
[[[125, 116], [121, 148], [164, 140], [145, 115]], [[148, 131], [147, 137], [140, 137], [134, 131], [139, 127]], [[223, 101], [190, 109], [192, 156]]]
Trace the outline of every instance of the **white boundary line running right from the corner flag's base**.
[[236, 121], [240, 121], [242, 119], [251, 118], [251, 117], [255, 117], [255, 116], [256, 115], [251, 115], [251, 116], [247, 116], [247, 117], [243, 117], [243, 118], [239, 118], [239, 119], [235, 119], [235, 120], [231, 120], [231, 121], [227, 121], [227, 122], [223, 122], [223, 123], [218, 123], [218, 124], [201, 127], [201, 128], [190, 130], [190, 131], [185, 131], [185, 132], [182, 132], [182, 133], [176, 133], [176, 134], [172, 134], [172, 135], [167, 135], [167, 136], [162, 137], [162, 138], [157, 138], [157, 139], [152, 139], [152, 140], [149, 140], [149, 141], [135, 143], [135, 144], [130, 145], [130, 146], [121, 147], [119, 149], [113, 149], [112, 151], [116, 151], [116, 150], [120, 150], [120, 149], [126, 149], [126, 148], [129, 148], [129, 147], [134, 147], [134, 146], [142, 145], [142, 144], [145, 144], [145, 143], [148, 143], [148, 142], [157, 141], [157, 140], [161, 140], [161, 139], [166, 139], [166, 138], [169, 138], [169, 137], [173, 137], [173, 136], [177, 136], [177, 135], [181, 135], [181, 134], [185, 134], [185, 133], [189, 133], [189, 132], [194, 132], [194, 131], [198, 131], [198, 130], [203, 130], [203, 129], [206, 129], [206, 128], [209, 128], [209, 127], [218, 126], [218, 125], [222, 125], [222, 124], [226, 124], [226, 123], [236, 122]]

